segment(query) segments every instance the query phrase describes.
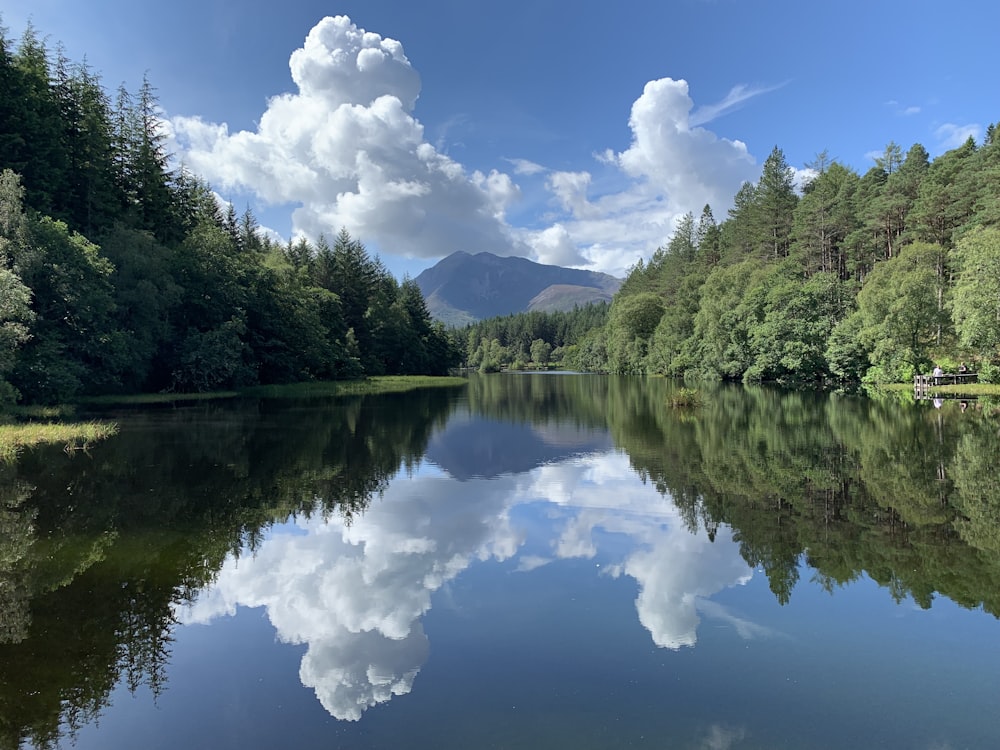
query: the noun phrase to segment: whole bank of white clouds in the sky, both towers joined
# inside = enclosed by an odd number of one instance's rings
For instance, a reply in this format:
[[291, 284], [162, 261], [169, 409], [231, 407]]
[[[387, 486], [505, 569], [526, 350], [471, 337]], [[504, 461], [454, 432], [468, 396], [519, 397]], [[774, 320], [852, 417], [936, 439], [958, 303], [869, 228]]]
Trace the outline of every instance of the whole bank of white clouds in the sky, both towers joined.
[[272, 98], [255, 130], [177, 116], [171, 150], [223, 190], [294, 207], [295, 234], [346, 227], [383, 256], [485, 250], [617, 275], [662, 245], [677, 216], [706, 203], [721, 215], [756, 179], [743, 143], [701, 126], [774, 88], [735, 86], [694, 109], [685, 81], [650, 81], [632, 106], [631, 145], [594, 155], [602, 174], [506, 159], [520, 177], [547, 174], [557, 209], [513, 227], [506, 216], [521, 191], [511, 177], [469, 171], [428, 142], [413, 114], [420, 76], [400, 42], [328, 17], [289, 67], [296, 92]]

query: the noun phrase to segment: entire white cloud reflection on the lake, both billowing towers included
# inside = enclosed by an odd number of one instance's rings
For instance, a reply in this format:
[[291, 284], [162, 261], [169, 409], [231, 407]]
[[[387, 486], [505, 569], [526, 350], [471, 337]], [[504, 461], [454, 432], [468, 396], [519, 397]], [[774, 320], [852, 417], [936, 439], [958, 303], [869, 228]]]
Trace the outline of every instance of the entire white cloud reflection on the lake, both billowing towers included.
[[[517, 508], [532, 517], [541, 511], [544, 522], [530, 527], [544, 538], [528, 539], [512, 521]], [[266, 608], [280, 640], [308, 647], [303, 684], [336, 718], [358, 720], [413, 687], [429, 650], [420, 618], [447, 582], [476, 561], [517, 557], [516, 568], [528, 572], [607, 557], [600, 540], [608, 534], [628, 551], [604, 570], [637, 581], [639, 620], [657, 645], [693, 646], [699, 610], [743, 637], [763, 634], [707, 600], [752, 575], [725, 530], [714, 543], [689, 533], [670, 500], [614, 452], [493, 480], [398, 477], [349, 526], [310, 519], [277, 530], [254, 557], [227, 562], [179, 616], [199, 623], [238, 606]], [[529, 552], [539, 544], [548, 555]]]

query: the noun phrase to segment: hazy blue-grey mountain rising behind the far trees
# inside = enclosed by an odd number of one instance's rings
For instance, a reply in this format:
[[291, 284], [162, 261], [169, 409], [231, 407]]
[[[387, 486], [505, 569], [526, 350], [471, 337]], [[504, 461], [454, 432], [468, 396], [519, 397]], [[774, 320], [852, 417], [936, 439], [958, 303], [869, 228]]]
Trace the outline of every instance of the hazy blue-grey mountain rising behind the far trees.
[[596, 271], [462, 251], [442, 259], [414, 281], [431, 316], [455, 326], [529, 310], [572, 310], [591, 302], [610, 302], [622, 284], [621, 279]]

